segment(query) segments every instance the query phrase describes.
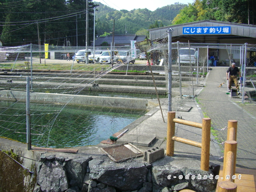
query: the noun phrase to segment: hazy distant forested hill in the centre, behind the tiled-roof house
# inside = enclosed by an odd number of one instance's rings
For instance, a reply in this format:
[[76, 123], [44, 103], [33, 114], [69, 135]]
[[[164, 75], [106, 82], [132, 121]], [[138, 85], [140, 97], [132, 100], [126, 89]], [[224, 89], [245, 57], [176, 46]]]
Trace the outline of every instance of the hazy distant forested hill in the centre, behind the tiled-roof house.
[[[112, 32], [113, 20], [115, 20], [115, 34], [137, 34], [146, 35], [148, 28], [163, 27], [172, 24], [174, 17], [180, 10], [188, 5], [175, 3], [162, 8], [157, 8], [155, 11], [144, 9], [114, 10], [110, 7], [99, 4], [96, 12], [96, 31], [98, 35], [104, 32]], [[126, 28], [126, 31], [125, 31]]]

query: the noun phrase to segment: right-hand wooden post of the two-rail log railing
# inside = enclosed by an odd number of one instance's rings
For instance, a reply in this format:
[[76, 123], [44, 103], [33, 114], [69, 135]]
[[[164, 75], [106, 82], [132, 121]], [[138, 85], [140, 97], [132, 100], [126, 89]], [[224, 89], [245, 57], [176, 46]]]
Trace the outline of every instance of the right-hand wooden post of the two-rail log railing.
[[211, 118], [203, 118], [203, 120], [202, 120], [202, 150], [201, 150], [201, 169], [203, 171], [209, 171], [210, 137], [211, 137]]

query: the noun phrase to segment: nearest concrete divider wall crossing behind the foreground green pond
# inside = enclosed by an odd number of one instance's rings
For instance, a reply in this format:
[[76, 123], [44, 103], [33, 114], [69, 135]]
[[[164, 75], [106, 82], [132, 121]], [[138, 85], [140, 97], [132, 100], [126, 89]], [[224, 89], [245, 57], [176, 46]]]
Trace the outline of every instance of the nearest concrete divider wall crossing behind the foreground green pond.
[[[3, 90], [0, 91], [0, 98], [26, 101], [26, 92]], [[151, 108], [158, 106], [153, 100], [139, 98], [99, 97], [36, 92], [30, 93], [30, 101], [138, 110], [150, 110]]]

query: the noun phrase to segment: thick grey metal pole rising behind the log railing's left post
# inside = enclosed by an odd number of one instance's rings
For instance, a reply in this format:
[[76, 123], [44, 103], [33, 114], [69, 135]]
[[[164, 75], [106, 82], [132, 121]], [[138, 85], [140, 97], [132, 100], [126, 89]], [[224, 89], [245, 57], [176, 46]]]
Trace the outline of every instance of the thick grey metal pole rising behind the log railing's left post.
[[168, 111], [172, 111], [172, 28], [166, 30], [168, 33]]

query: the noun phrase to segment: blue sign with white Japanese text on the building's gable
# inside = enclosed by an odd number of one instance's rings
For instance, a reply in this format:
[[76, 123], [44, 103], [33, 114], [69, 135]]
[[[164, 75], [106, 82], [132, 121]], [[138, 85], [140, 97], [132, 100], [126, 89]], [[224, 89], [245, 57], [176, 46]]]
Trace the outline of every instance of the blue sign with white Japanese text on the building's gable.
[[183, 34], [230, 34], [231, 27], [183, 27]]

